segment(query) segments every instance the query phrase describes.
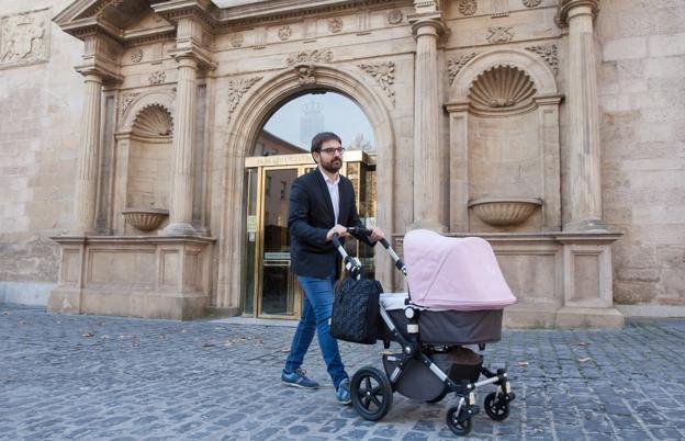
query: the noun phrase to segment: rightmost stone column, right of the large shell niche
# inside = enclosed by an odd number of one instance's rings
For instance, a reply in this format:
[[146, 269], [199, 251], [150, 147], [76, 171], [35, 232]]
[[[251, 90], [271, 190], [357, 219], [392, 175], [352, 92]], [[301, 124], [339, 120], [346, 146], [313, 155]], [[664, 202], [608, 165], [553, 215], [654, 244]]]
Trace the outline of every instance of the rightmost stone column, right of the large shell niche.
[[602, 219], [597, 69], [593, 19], [597, 0], [562, 0], [558, 20], [569, 26], [566, 191], [570, 216], [564, 230], [606, 230]]

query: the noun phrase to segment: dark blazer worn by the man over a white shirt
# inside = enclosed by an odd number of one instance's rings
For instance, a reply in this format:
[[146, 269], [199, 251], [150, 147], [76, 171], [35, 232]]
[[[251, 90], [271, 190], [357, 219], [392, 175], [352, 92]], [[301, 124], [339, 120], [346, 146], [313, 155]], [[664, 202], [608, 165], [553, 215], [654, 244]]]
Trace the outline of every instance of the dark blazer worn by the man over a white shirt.
[[[338, 183], [340, 212], [338, 224], [362, 227], [355, 203], [355, 189], [349, 179], [340, 176]], [[338, 275], [340, 256], [326, 234], [335, 226], [335, 214], [328, 185], [321, 170], [314, 169], [295, 179], [290, 190], [288, 227], [290, 229], [290, 264], [297, 275], [328, 278]], [[367, 238], [361, 240], [370, 246]]]

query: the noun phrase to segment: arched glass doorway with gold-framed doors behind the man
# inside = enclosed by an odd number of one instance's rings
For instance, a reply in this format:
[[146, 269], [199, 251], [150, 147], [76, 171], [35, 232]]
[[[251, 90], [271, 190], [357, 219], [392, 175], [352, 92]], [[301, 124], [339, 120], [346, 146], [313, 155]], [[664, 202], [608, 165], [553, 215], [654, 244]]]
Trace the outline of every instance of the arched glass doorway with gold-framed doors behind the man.
[[[329, 90], [288, 98], [268, 116], [245, 159], [245, 315], [300, 316], [302, 292], [290, 272], [288, 206], [292, 182], [316, 170], [310, 145], [319, 132], [341, 137], [341, 172], [352, 181], [362, 222], [375, 225], [375, 143], [366, 114], [355, 101]], [[353, 240], [346, 247], [373, 276], [373, 251]]]

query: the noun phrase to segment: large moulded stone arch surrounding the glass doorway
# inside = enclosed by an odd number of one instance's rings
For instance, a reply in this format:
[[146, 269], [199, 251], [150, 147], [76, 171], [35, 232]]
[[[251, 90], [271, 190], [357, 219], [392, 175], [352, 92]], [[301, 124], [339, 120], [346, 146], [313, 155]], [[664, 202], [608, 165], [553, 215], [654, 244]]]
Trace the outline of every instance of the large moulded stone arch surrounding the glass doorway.
[[[394, 133], [384, 100], [363, 76], [339, 66], [297, 65], [260, 79], [245, 93], [242, 103], [233, 106], [227, 144], [222, 158], [224, 176], [217, 188], [226, 189], [218, 197], [223, 206], [218, 231], [218, 283], [216, 306], [236, 307], [242, 293], [244, 250], [244, 172], [245, 158], [255, 145], [267, 118], [282, 103], [297, 95], [327, 90], [341, 93], [357, 102], [374, 128], [378, 151], [378, 224], [393, 231]], [[231, 111], [231, 109], [229, 109]], [[239, 210], [236, 210], [240, 207]], [[377, 253], [379, 279], [389, 283], [391, 267], [384, 253]]]

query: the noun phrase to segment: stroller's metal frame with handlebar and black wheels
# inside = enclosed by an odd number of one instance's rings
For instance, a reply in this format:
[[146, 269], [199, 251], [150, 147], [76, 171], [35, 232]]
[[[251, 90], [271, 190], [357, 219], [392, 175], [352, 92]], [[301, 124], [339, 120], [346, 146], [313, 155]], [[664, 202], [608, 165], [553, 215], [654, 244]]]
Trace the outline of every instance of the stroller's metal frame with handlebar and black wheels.
[[[355, 236], [368, 235], [370, 233], [363, 228], [348, 228], [348, 231]], [[360, 261], [346, 252], [337, 236], [334, 236], [333, 241], [338, 252], [343, 256], [348, 274], [355, 279], [360, 279]], [[406, 276], [406, 265], [392, 249], [388, 240], [381, 239], [380, 242], [395, 262], [395, 268]], [[430, 399], [429, 403], [437, 403], [449, 393], [454, 393], [457, 396], [457, 406], [450, 407], [446, 416], [447, 426], [453, 433], [467, 436], [471, 432], [471, 419], [480, 411], [480, 407], [476, 405], [475, 400], [475, 391], [479, 387], [490, 384], [496, 385], [496, 392], [489, 394], [484, 399], [483, 406], [485, 412], [495, 421], [502, 421], [508, 417], [509, 403], [515, 399], [516, 395], [512, 392], [510, 381], [505, 369], [497, 369], [493, 372], [481, 365], [479, 376], [483, 375], [485, 380], [480, 382], [472, 382], [471, 378], [451, 378], [426, 353], [433, 352], [435, 348], [439, 346], [422, 343], [420, 341], [418, 317], [422, 314], [422, 308], [412, 304], [409, 298], [405, 299], [404, 315], [408, 320], [408, 338], [400, 331], [382, 304], [379, 305], [379, 313], [383, 324], [390, 331], [392, 341], [396, 341], [402, 351], [401, 353], [393, 354], [398, 355], [398, 361], [396, 361], [396, 365], [390, 375], [377, 368], [364, 366], [352, 376], [350, 382], [352, 406], [362, 418], [377, 421], [388, 414], [392, 406], [392, 395], [396, 392], [396, 385], [405, 373], [407, 365], [413, 360], [420, 362], [443, 384], [442, 393], [435, 399]], [[383, 346], [385, 349], [389, 349], [391, 340], [383, 339]], [[447, 348], [459, 347], [460, 346], [456, 344]], [[479, 349], [481, 351], [484, 350], [485, 344], [479, 343]], [[407, 397], [413, 398], [411, 396]]]

